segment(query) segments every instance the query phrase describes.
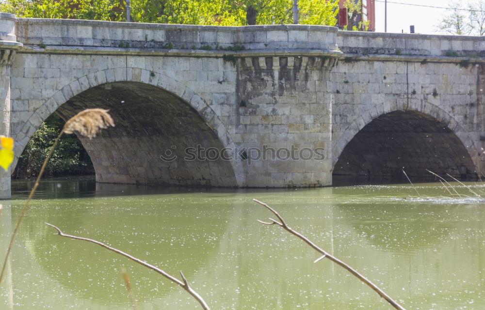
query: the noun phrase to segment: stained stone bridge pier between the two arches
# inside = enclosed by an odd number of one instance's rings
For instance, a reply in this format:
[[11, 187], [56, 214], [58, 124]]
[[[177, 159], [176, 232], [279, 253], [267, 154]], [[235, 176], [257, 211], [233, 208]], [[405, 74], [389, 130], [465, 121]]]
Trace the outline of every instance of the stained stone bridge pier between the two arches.
[[332, 184], [329, 82], [338, 56], [241, 58], [235, 143], [247, 162], [246, 186]]

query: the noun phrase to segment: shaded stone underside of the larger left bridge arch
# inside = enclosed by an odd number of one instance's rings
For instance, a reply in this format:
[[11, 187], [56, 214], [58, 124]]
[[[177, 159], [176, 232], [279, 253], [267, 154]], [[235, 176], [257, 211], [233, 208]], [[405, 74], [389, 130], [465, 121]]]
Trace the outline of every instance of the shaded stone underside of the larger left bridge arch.
[[[188, 158], [186, 148], [221, 150], [224, 146], [198, 112], [178, 96], [143, 83], [115, 82], [72, 97], [55, 113], [67, 120], [89, 108], [109, 109], [115, 123], [92, 140], [78, 135], [91, 157], [97, 182], [236, 186], [229, 161]], [[166, 161], [161, 155], [177, 159]]]

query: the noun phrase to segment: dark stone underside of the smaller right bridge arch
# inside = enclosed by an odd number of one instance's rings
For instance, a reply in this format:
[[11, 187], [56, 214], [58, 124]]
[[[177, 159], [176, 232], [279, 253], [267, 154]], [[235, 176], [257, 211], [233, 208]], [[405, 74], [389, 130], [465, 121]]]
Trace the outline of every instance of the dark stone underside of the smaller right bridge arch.
[[334, 166], [334, 185], [433, 181], [426, 170], [475, 180], [473, 161], [446, 124], [417, 111], [381, 115], [347, 144]]

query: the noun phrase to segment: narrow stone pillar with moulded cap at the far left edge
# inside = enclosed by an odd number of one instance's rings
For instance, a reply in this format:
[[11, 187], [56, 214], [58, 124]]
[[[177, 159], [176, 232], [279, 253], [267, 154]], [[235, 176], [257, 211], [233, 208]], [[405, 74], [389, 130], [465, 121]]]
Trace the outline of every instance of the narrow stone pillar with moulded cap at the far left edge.
[[[10, 67], [16, 49], [22, 47], [16, 42], [16, 16], [0, 13], [0, 135], [10, 136]], [[10, 193], [10, 169], [0, 169], [0, 199], [8, 199]]]

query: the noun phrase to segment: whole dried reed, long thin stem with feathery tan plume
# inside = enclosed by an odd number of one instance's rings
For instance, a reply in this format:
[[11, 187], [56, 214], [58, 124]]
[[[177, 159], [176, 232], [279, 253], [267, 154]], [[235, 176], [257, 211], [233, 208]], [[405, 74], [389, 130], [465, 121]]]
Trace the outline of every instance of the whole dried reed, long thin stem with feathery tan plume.
[[42, 164], [42, 168], [40, 169], [40, 172], [37, 175], [37, 179], [35, 179], [35, 184], [32, 187], [29, 197], [27, 198], [27, 202], [25, 202], [25, 206], [22, 210], [22, 213], [18, 217], [14, 232], [12, 233], [12, 238], [10, 239], [10, 243], [8, 245], [7, 254], [5, 255], [5, 260], [3, 261], [3, 267], [0, 273], [0, 283], [1, 283], [1, 280], [3, 279], [3, 273], [5, 272], [8, 256], [10, 255], [10, 251], [12, 250], [12, 245], [14, 244], [14, 239], [18, 231], [18, 226], [20, 225], [22, 218], [25, 216], [25, 213], [29, 208], [29, 203], [32, 199], [32, 196], [35, 193], [37, 186], [39, 186], [39, 180], [42, 177], [42, 174], [46, 169], [47, 163], [49, 162], [50, 156], [52, 155], [52, 152], [54, 151], [54, 148], [56, 147], [57, 143], [61, 139], [61, 136], [64, 133], [72, 134], [74, 132], [78, 132], [81, 136], [85, 136], [89, 139], [92, 139], [93, 137], [96, 136], [99, 130], [108, 128], [108, 126], [114, 127], [114, 123], [113, 123], [113, 118], [111, 118], [111, 116], [108, 114], [108, 110], [105, 110], [105, 109], [85, 109], [84, 111], [81, 111], [78, 114], [74, 115], [65, 123], [63, 129], [61, 130], [56, 140], [50, 147], [49, 154], [47, 155], [46, 159], [44, 160], [44, 163]]

